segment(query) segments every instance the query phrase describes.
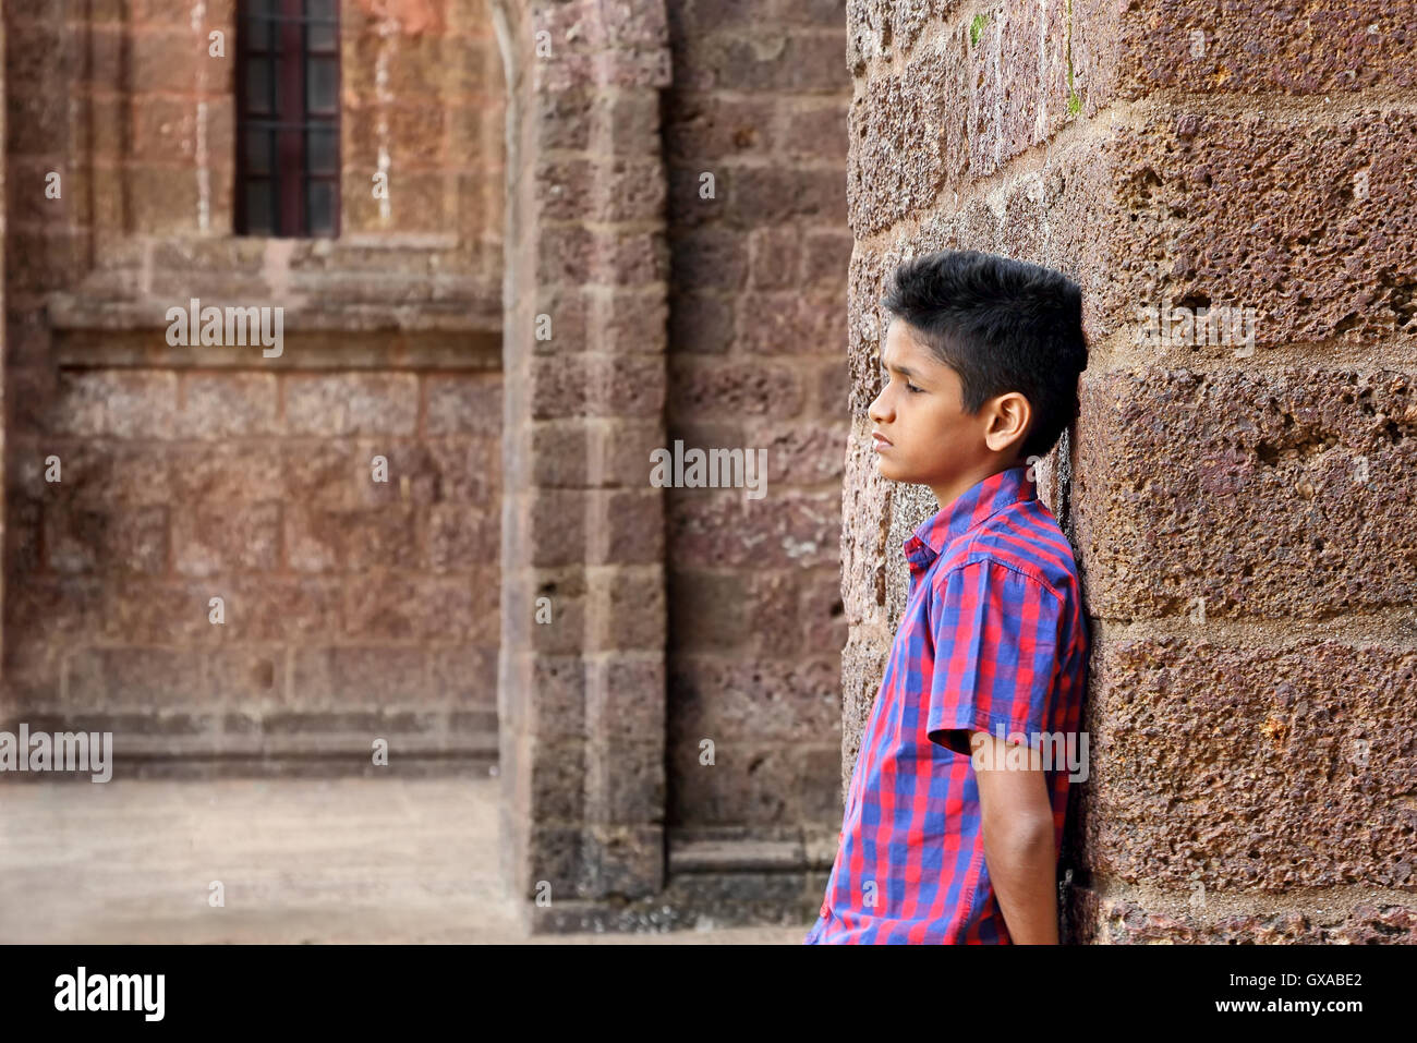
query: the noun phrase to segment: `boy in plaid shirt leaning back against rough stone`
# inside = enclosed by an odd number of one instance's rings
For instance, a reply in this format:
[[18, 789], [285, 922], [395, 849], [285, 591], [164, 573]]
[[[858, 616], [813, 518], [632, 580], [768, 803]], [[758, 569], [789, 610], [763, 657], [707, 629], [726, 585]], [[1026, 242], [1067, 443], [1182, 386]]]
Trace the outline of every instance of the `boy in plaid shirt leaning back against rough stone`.
[[1032, 465], [1077, 417], [1083, 295], [944, 251], [901, 265], [881, 305], [879, 469], [939, 510], [904, 544], [910, 594], [805, 944], [1057, 944], [1076, 765], [1054, 754], [1077, 748], [1060, 740], [1078, 741], [1088, 635]]

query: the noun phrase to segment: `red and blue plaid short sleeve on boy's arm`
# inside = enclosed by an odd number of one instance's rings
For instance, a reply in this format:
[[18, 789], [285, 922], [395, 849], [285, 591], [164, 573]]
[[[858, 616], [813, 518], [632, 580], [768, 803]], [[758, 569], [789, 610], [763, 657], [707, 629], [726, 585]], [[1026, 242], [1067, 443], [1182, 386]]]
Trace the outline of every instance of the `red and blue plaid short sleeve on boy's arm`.
[[1002, 726], [1036, 745], [1061, 653], [1057, 592], [985, 558], [951, 568], [931, 594], [930, 741], [969, 755], [971, 731]]

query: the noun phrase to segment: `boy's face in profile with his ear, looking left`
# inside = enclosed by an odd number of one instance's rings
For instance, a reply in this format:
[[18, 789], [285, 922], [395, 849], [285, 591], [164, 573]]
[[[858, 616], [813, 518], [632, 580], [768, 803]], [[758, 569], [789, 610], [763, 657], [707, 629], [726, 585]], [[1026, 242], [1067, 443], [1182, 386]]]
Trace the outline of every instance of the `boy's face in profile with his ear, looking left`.
[[992, 398], [971, 417], [959, 374], [917, 343], [903, 319], [891, 319], [881, 366], [881, 393], [866, 411], [881, 478], [928, 485], [945, 506], [1015, 462], [1030, 419], [1022, 394]]

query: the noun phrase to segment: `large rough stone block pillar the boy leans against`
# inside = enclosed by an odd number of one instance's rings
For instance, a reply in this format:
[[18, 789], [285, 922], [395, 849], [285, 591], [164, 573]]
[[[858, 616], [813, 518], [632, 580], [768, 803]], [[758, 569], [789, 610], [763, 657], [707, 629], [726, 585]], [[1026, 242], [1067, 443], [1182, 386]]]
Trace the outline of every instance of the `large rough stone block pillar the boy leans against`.
[[1413, 4], [925, 7], [849, 6], [843, 784], [934, 506], [871, 466], [877, 302], [1036, 261], [1091, 340], [1041, 473], [1094, 636], [1066, 937], [1417, 941]]

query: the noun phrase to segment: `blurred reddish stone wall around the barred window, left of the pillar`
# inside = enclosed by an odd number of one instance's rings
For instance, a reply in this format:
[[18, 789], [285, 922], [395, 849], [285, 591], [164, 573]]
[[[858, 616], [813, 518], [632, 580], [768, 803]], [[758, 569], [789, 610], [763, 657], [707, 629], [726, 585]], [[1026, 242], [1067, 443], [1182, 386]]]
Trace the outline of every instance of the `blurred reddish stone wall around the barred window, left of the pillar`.
[[[3, 716], [120, 768], [496, 757], [502, 68], [482, 3], [341, 9], [340, 237], [273, 239], [231, 234], [231, 0], [6, 7]], [[190, 298], [282, 354], [170, 346]]]

